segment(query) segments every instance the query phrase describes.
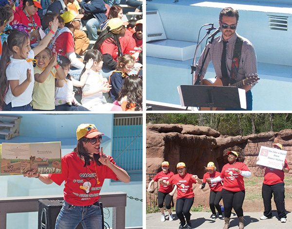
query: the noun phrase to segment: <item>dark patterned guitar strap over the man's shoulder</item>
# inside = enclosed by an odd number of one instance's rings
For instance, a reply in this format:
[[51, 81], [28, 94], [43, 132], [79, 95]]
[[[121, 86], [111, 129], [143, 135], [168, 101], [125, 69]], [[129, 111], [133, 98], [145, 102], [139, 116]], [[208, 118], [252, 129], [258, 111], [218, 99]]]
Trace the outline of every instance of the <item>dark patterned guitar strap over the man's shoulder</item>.
[[232, 65], [230, 70], [230, 79], [229, 83], [234, 84], [237, 81], [237, 74], [239, 69], [239, 63], [241, 58], [241, 49], [243, 44], [243, 37], [237, 35], [234, 51], [233, 51], [233, 58], [232, 58]]

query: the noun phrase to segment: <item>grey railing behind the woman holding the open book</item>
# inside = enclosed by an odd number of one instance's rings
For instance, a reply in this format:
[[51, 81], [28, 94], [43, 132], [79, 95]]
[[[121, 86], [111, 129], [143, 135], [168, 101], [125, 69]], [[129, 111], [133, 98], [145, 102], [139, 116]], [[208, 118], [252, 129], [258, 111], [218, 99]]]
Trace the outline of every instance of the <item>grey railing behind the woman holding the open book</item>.
[[[7, 213], [29, 213], [38, 211], [38, 200], [62, 200], [63, 195], [21, 196], [0, 198], [0, 228], [6, 228]], [[100, 194], [104, 207], [112, 209], [112, 229], [125, 229], [125, 211], [127, 194], [123, 192]]]

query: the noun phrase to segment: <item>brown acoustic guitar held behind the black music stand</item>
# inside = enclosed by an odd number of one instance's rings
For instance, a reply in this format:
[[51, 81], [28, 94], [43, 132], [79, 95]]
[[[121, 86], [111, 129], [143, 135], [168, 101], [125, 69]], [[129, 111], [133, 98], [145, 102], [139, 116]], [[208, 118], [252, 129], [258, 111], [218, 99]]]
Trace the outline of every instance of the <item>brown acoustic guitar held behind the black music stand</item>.
[[[236, 82], [231, 87], [242, 87], [244, 85], [251, 85], [260, 79], [256, 75], [248, 75], [246, 78], [242, 81]], [[210, 82], [207, 79], [202, 80], [202, 85], [208, 85], [208, 86], [228, 86], [229, 85], [229, 78], [216, 78], [215, 82]], [[208, 107], [201, 107], [201, 111], [210, 111], [210, 108]], [[225, 111], [225, 108], [213, 108], [212, 111]]]

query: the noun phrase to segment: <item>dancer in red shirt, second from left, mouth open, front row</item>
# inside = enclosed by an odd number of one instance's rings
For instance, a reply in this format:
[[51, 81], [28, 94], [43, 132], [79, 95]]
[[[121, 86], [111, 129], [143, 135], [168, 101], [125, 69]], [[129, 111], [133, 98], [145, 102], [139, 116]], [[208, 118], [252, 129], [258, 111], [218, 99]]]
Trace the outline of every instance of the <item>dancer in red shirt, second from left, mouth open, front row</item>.
[[193, 184], [201, 184], [202, 181], [197, 175], [187, 173], [183, 162], [177, 164], [177, 172], [178, 174], [172, 176], [168, 181], [164, 182], [163, 179], [159, 179], [159, 182], [162, 185], [177, 185], [178, 193], [175, 212], [181, 221], [179, 229], [183, 229], [185, 221], [187, 223], [187, 229], [192, 229], [190, 209], [194, 203], [195, 196], [192, 187]]

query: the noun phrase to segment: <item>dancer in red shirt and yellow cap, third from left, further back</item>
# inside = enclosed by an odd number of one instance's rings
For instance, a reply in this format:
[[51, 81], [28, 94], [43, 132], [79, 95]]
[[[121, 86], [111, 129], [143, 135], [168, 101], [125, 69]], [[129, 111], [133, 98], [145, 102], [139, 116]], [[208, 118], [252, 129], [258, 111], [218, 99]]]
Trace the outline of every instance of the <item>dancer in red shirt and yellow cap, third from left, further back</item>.
[[[205, 167], [205, 170], [207, 171], [204, 174], [203, 177], [203, 183], [200, 185], [200, 189], [203, 189], [205, 187], [206, 181], [208, 178], [216, 178], [218, 176], [220, 176], [220, 173], [216, 171], [216, 167], [215, 164], [213, 162], [209, 162], [207, 167]], [[211, 218], [212, 219], [216, 219], [217, 214], [215, 211], [215, 207], [218, 211], [218, 217], [219, 219], [222, 219], [222, 211], [221, 211], [221, 207], [219, 205], [220, 200], [222, 199], [222, 183], [221, 181], [217, 182], [217, 183], [209, 183], [209, 187], [210, 187], [210, 196], [209, 196], [209, 205], [210, 205], [210, 209], [212, 211], [212, 215]]]

